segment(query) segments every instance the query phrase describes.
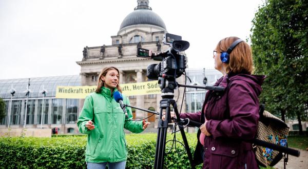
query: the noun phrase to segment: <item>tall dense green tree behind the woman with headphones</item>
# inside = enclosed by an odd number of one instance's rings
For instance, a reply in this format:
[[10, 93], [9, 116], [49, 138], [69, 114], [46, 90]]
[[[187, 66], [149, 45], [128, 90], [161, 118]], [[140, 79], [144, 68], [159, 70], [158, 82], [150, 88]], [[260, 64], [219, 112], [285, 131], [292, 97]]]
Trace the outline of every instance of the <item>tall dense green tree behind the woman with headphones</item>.
[[268, 0], [253, 19], [255, 71], [265, 74], [260, 100], [285, 120], [301, 120], [308, 105], [308, 0]]

